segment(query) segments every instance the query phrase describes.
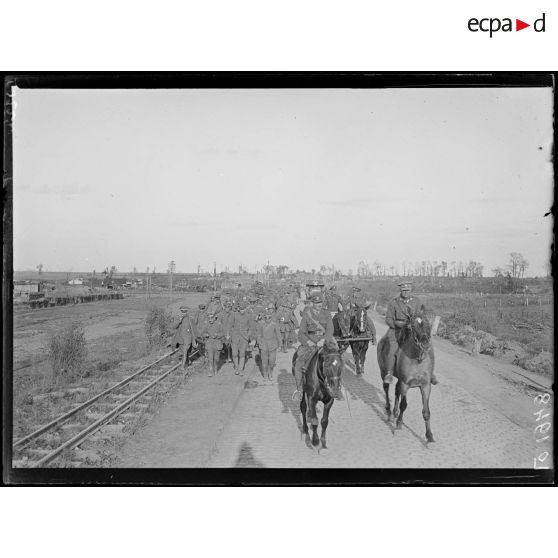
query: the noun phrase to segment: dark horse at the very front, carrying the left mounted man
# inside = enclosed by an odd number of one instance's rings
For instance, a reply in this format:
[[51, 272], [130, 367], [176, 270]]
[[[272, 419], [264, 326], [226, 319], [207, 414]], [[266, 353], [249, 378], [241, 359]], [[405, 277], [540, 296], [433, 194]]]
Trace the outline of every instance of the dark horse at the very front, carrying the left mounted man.
[[[293, 355], [293, 374], [297, 353]], [[302, 433], [308, 434], [308, 423], [306, 411], [312, 426], [312, 445], [322, 443], [322, 449], [327, 449], [326, 429], [329, 422], [329, 411], [333, 401], [339, 396], [341, 388], [341, 373], [343, 372], [343, 357], [337, 350], [326, 347], [317, 349], [311, 356], [306, 367], [302, 401], [300, 412], [302, 414]], [[322, 435], [318, 439], [318, 415], [316, 404], [321, 401], [324, 404], [322, 414]]]

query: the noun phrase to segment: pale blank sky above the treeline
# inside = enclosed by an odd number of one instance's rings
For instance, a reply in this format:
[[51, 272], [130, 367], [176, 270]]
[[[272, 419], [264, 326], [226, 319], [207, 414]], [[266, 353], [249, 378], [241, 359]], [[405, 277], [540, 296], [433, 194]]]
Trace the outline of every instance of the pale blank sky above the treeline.
[[550, 89], [13, 92], [16, 270], [545, 273]]

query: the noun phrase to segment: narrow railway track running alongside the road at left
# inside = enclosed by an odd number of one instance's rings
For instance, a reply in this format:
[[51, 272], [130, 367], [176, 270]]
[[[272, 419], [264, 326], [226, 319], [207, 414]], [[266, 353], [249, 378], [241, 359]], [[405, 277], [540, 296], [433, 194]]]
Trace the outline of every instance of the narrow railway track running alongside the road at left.
[[[147, 403], [139, 403], [140, 399], [148, 400], [151, 397], [148, 393], [168, 380], [173, 372], [181, 367], [181, 361], [175, 365], [163, 364], [177, 351], [178, 349], [175, 349], [163, 355], [48, 424], [16, 440], [12, 446], [12, 466], [44, 467], [78, 448], [97, 432], [102, 432], [132, 405], [148, 407]], [[189, 358], [197, 353], [198, 351], [194, 351]], [[72, 459], [72, 463], [78, 462], [79, 457], [77, 461]]]

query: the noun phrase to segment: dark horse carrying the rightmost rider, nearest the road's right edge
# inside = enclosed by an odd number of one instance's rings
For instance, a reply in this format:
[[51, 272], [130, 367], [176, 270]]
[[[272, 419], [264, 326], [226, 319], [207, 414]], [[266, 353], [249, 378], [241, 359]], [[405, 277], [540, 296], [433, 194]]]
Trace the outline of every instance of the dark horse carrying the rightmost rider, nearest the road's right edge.
[[[395, 385], [395, 403], [393, 417], [397, 419], [396, 428], [401, 429], [403, 413], [407, 408], [407, 390], [419, 387], [422, 394], [422, 416], [426, 425], [426, 440], [434, 441], [430, 430], [430, 389], [432, 372], [434, 371], [434, 349], [430, 335], [430, 323], [423, 313], [411, 315], [409, 324], [403, 328], [398, 336], [399, 347], [396, 352], [393, 375], [398, 379]], [[389, 339], [387, 335], [378, 343], [378, 364], [382, 381], [387, 373], [386, 356]], [[386, 411], [388, 420], [391, 417], [389, 401], [389, 384], [383, 382], [386, 394]], [[401, 404], [399, 403], [401, 399]]]

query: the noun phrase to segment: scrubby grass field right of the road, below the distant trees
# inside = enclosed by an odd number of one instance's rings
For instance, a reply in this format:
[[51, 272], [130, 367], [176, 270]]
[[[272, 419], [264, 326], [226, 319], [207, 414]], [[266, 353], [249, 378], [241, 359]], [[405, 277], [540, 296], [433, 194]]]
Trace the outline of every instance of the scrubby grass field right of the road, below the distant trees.
[[[357, 285], [383, 312], [399, 294], [396, 283], [355, 281], [339, 284], [338, 290], [345, 293]], [[432, 292], [431, 281], [415, 280], [413, 292], [424, 302], [431, 318], [441, 317], [440, 336], [468, 348], [475, 339], [482, 338], [481, 352], [550, 376], [554, 370], [552, 283], [548, 279], [531, 279], [528, 286], [530, 294], [486, 294], [494, 291], [492, 278], [452, 279]]]

